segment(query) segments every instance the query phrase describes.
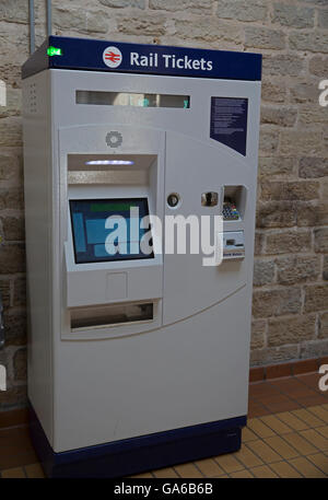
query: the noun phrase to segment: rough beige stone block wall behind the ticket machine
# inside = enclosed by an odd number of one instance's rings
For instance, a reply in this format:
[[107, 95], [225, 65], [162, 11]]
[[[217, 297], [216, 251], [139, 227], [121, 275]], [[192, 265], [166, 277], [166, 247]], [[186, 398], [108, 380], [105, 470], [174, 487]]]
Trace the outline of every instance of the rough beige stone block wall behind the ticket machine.
[[[20, 66], [27, 0], [0, 2], [0, 287], [9, 391], [25, 405], [26, 328]], [[45, 2], [36, 0], [36, 42]], [[54, 34], [263, 54], [251, 364], [328, 354], [328, 0], [52, 0]]]

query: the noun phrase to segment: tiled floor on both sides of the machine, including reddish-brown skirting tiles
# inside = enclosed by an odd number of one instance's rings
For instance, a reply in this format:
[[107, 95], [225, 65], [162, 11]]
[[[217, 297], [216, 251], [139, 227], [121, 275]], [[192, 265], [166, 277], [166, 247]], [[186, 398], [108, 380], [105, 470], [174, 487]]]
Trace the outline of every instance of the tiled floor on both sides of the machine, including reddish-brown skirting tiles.
[[[133, 477], [328, 477], [328, 394], [318, 394], [315, 381], [314, 376], [305, 375], [298, 380], [253, 384], [249, 404], [253, 418], [243, 430], [238, 452]], [[307, 406], [309, 400], [317, 404]], [[283, 410], [274, 412], [270, 407]], [[286, 407], [289, 410], [284, 410]], [[44, 477], [25, 428], [0, 430], [0, 474], [2, 478]]]

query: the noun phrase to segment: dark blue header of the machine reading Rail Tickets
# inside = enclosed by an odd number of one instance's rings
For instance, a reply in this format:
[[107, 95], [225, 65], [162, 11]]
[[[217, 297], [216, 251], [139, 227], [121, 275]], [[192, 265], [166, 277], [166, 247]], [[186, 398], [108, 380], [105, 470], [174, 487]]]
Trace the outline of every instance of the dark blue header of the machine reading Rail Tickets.
[[260, 81], [261, 55], [49, 36], [23, 65], [22, 78], [45, 69]]

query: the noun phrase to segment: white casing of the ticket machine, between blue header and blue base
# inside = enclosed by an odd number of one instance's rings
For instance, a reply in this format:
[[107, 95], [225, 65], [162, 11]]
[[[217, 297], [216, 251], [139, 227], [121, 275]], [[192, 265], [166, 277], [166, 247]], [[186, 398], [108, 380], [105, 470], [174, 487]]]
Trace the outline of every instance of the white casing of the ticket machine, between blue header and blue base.
[[[187, 94], [190, 108], [77, 104], [78, 90]], [[210, 138], [211, 96], [248, 100], [245, 156]], [[247, 415], [260, 82], [47, 69], [23, 80], [23, 100], [28, 398], [54, 452]], [[74, 155], [134, 165], [79, 184]], [[213, 216], [224, 186], [244, 189], [242, 217], [223, 225], [242, 258], [75, 264], [69, 200], [144, 196], [161, 219]], [[219, 205], [203, 207], [206, 191]], [[77, 307], [150, 302], [153, 321], [71, 328]]]

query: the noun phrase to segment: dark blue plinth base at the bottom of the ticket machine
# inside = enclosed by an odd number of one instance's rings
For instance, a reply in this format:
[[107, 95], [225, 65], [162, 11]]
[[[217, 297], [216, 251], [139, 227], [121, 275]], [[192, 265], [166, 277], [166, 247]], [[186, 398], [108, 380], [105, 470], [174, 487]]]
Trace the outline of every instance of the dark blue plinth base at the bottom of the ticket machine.
[[230, 418], [55, 453], [30, 405], [32, 442], [48, 477], [114, 478], [236, 452], [246, 420], [246, 417]]

